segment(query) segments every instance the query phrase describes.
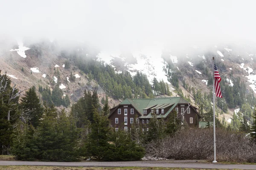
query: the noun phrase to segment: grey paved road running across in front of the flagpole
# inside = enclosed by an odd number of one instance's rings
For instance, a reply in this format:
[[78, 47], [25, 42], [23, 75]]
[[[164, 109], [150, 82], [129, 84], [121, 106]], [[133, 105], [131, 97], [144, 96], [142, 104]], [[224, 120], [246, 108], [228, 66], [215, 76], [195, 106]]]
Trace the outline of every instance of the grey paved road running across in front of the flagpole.
[[127, 161], [127, 162], [39, 162], [39, 161], [0, 161], [0, 165], [32, 166], [79, 166], [79, 167], [180, 167], [209, 169], [246, 169], [256, 170], [256, 165], [248, 164], [206, 164], [194, 162], [174, 163], [168, 161]]

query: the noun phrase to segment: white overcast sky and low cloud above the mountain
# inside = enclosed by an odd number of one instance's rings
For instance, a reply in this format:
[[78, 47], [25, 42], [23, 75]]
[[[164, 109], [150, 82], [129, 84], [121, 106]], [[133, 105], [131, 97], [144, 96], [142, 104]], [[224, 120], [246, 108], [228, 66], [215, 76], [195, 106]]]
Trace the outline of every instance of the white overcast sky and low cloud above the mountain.
[[107, 50], [256, 40], [255, 0], [0, 0], [0, 34]]

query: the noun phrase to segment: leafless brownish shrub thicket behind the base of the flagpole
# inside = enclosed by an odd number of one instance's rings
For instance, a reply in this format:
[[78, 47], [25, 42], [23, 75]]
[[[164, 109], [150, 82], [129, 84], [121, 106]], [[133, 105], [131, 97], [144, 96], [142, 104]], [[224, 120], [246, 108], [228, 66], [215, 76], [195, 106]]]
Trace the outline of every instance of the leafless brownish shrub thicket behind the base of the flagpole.
[[[146, 146], [146, 156], [213, 160], [213, 129], [188, 129]], [[256, 145], [244, 133], [216, 129], [217, 161], [256, 162]]]

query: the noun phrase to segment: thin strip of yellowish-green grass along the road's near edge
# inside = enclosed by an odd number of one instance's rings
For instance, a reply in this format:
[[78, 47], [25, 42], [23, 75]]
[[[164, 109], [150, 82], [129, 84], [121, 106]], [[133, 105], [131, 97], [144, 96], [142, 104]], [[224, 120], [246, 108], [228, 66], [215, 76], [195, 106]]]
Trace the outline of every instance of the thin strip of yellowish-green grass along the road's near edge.
[[[0, 166], [0, 170], [198, 170], [192, 168], [165, 167], [49, 167], [49, 166]], [[200, 169], [210, 170], [210, 169]]]

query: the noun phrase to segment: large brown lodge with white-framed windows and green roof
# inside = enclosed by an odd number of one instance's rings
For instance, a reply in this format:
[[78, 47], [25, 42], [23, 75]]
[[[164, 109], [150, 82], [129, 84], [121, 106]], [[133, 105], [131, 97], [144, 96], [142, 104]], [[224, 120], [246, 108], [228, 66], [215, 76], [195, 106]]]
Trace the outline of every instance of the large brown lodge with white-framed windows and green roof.
[[181, 97], [156, 98], [156, 99], [125, 99], [118, 106], [110, 109], [108, 118], [112, 127], [118, 131], [124, 128], [131, 129], [134, 123], [140, 123], [143, 131], [148, 131], [148, 123], [155, 113], [157, 119], [168, 120], [169, 114], [175, 110], [178, 119], [186, 122], [189, 127], [198, 127], [200, 114], [197, 108]]

